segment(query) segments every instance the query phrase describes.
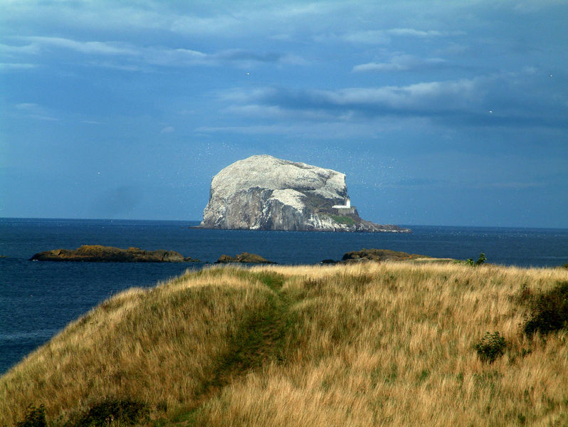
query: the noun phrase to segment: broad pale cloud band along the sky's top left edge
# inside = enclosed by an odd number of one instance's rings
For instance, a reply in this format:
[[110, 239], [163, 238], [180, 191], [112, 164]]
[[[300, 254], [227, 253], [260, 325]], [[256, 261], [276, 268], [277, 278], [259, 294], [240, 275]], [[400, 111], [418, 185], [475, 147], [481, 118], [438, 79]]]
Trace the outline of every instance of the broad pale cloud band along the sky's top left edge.
[[[21, 23], [36, 28], [75, 28], [81, 31], [162, 31], [190, 36], [226, 36], [238, 38], [263, 33], [267, 28], [288, 31], [298, 21], [329, 14], [345, 8], [335, 2], [290, 2], [258, 4], [256, 2], [183, 2], [144, 0], [116, 1], [4, 1], [0, 14], [6, 16], [8, 28]], [[300, 23], [301, 25], [301, 23]]]

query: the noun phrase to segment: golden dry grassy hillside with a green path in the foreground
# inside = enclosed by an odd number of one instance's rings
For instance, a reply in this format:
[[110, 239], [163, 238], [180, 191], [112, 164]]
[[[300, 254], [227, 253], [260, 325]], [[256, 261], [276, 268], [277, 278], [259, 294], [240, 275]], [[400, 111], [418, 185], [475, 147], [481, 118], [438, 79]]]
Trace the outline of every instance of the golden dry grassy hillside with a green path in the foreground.
[[30, 404], [56, 426], [135, 408], [159, 427], [566, 426], [568, 332], [523, 325], [567, 282], [411, 262], [186, 273], [103, 302], [2, 376], [0, 426]]

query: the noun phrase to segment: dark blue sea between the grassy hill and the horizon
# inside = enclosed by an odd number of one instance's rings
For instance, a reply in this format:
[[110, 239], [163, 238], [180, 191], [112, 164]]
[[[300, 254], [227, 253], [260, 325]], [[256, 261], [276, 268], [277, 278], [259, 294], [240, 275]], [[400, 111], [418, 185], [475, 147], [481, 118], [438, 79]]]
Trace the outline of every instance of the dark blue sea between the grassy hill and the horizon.
[[[205, 230], [199, 221], [0, 218], [0, 374], [103, 300], [152, 287], [214, 263], [220, 255], [258, 253], [285, 265], [340, 260], [383, 248], [436, 258], [521, 267], [568, 263], [568, 229], [413, 226], [413, 233], [316, 233]], [[85, 244], [167, 249], [199, 263], [53, 263], [34, 253]]]

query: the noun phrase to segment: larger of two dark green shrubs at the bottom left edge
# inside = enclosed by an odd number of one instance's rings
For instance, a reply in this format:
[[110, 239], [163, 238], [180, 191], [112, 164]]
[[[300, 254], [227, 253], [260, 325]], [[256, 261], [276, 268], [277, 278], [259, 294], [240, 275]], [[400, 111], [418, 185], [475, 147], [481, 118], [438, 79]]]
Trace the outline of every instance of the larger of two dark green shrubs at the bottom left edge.
[[99, 427], [111, 423], [133, 425], [147, 418], [147, 404], [130, 399], [107, 398], [70, 420], [66, 427]]

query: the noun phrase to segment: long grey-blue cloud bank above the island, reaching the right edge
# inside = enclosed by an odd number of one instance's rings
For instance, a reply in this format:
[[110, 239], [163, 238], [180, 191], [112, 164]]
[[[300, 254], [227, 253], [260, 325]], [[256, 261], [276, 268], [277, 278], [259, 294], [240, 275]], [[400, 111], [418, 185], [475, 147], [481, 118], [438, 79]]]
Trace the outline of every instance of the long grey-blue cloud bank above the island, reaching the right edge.
[[[373, 117], [425, 118], [448, 125], [556, 127], [566, 129], [568, 98], [545, 96], [539, 73], [500, 73], [367, 88], [318, 90], [269, 87], [221, 94], [228, 111], [288, 120], [371, 120]], [[544, 84], [544, 83], [543, 83]], [[527, 90], [527, 88], [532, 88]]]

